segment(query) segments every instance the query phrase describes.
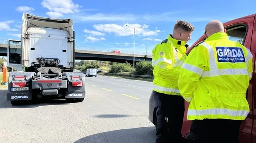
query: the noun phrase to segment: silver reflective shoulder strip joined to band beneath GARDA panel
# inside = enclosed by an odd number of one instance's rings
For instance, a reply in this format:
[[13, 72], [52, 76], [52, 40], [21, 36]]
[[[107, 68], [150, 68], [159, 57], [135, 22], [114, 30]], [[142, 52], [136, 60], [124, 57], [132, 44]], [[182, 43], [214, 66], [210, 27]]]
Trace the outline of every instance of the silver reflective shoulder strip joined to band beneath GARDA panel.
[[208, 49], [209, 60], [210, 60], [210, 71], [203, 71], [202, 77], [212, 77], [212, 76], [218, 76], [218, 75], [248, 75], [247, 69], [218, 70], [216, 58], [214, 57], [213, 48], [205, 42], [201, 43], [201, 45], [205, 46]]

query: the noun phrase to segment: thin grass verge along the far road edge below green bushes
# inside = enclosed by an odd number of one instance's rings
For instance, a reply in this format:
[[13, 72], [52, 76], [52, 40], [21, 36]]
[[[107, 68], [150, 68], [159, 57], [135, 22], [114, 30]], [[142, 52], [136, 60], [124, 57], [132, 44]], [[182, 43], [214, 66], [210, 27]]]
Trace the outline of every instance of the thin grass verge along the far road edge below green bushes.
[[153, 82], [154, 78], [146, 78], [146, 77], [133, 77], [130, 74], [116, 74], [116, 73], [98, 73], [98, 75], [105, 75], [110, 77], [117, 77], [117, 78], [125, 78], [129, 80], [142, 80], [142, 81], [149, 81]]

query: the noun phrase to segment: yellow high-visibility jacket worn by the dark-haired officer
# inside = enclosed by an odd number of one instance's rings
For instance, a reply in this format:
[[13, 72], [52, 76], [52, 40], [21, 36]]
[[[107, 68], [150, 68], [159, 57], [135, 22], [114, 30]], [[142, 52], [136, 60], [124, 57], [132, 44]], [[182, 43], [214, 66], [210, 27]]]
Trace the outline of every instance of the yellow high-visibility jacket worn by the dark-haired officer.
[[185, 41], [173, 39], [171, 35], [153, 48], [153, 90], [167, 95], [181, 95], [178, 90], [178, 75], [186, 58]]

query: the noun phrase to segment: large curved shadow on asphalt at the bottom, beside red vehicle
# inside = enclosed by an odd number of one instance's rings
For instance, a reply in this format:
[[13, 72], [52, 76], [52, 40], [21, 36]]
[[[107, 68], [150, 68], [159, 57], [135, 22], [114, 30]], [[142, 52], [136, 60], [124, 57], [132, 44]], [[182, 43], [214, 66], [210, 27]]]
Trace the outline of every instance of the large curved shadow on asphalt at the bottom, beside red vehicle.
[[155, 143], [155, 127], [128, 128], [97, 133], [74, 143]]

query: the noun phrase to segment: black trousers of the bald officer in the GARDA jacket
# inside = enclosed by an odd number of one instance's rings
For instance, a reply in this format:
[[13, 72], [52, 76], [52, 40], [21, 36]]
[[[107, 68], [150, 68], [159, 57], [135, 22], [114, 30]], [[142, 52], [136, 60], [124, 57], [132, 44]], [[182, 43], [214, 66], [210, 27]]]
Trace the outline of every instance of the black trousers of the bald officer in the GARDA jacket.
[[242, 121], [228, 119], [194, 120], [188, 143], [239, 143]]

